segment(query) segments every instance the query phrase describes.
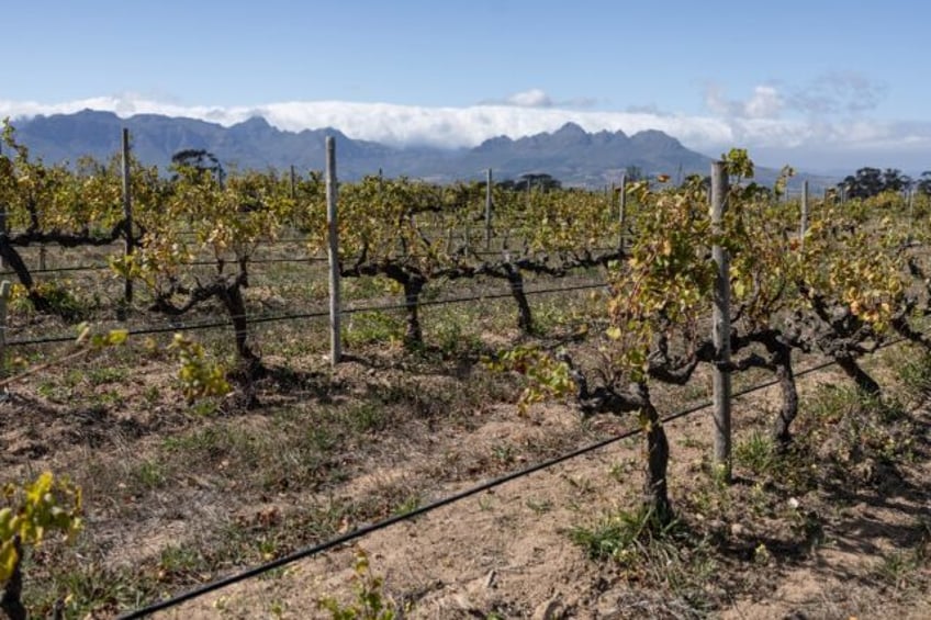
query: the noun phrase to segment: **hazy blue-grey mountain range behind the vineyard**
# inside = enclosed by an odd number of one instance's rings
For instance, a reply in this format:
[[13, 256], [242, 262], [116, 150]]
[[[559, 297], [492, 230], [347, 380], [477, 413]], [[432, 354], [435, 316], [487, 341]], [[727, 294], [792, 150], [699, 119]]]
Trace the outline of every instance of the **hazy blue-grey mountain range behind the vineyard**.
[[[436, 182], [484, 178], [491, 168], [496, 180], [526, 173], [546, 173], [567, 185], [604, 187], [617, 182], [631, 167], [643, 174], [665, 173], [673, 179], [709, 173], [711, 158], [685, 148], [659, 131], [588, 133], [568, 123], [553, 133], [517, 139], [498, 136], [474, 148], [394, 147], [352, 139], [337, 128], [288, 132], [254, 116], [223, 125], [193, 119], [137, 114], [121, 119], [112, 112], [83, 110], [74, 114], [34, 116], [13, 122], [16, 139], [48, 164], [75, 162], [90, 155], [106, 160], [120, 151], [123, 127], [128, 128], [134, 155], [146, 165], [166, 169], [183, 149], [213, 153], [227, 169], [322, 170], [325, 137], [336, 139], [340, 179], [358, 179], [380, 170]], [[775, 178], [762, 171], [761, 182]]]

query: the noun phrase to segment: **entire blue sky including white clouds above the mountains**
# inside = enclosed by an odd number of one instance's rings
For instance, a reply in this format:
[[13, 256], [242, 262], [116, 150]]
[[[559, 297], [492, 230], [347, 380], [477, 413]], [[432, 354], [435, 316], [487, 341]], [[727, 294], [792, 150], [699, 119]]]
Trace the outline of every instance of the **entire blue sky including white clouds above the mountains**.
[[931, 169], [931, 3], [8, 0], [0, 115], [161, 112], [473, 146], [574, 121]]

